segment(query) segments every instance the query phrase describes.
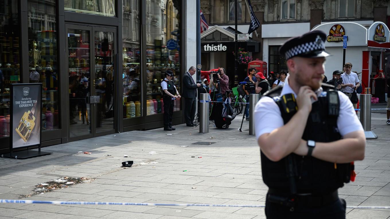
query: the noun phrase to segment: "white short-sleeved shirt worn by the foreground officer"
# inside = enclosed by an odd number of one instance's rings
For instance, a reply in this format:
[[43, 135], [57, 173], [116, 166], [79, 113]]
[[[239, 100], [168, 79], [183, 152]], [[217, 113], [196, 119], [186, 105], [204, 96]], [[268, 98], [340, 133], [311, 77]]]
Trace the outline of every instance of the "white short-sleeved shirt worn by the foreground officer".
[[[322, 88], [319, 88], [316, 93], [317, 96], [323, 91]], [[353, 105], [347, 95], [342, 92], [339, 93], [340, 99], [340, 110], [339, 117], [337, 118], [337, 128], [341, 136], [344, 136], [350, 132], [354, 131], [364, 131], [362, 124], [360, 123], [358, 117], [356, 116]], [[288, 84], [288, 78], [286, 78], [284, 86], [282, 88], [282, 93], [285, 94], [294, 94], [297, 95], [291, 89]], [[260, 101], [257, 102], [255, 106], [255, 133], [256, 138], [258, 139], [262, 134], [271, 133], [273, 130], [280, 128], [284, 125], [280, 109], [275, 101], [271, 97], [263, 96]]]

